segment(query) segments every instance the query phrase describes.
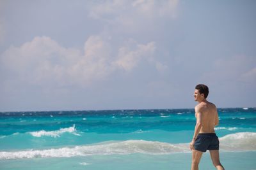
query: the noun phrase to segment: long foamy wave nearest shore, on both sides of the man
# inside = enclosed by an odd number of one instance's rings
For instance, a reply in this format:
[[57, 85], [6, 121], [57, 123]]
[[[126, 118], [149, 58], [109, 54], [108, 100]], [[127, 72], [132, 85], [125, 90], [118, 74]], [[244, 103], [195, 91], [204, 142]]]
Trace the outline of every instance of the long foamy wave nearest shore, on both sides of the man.
[[[256, 150], [256, 132], [239, 132], [220, 138], [220, 150], [223, 152], [243, 152]], [[0, 160], [24, 159], [36, 157], [76, 157], [90, 155], [127, 155], [145, 153], [162, 155], [170, 153], [186, 153], [189, 143], [163, 143], [159, 141], [127, 140], [106, 141], [96, 145], [51, 148], [47, 150], [23, 150], [18, 152], [0, 152]]]

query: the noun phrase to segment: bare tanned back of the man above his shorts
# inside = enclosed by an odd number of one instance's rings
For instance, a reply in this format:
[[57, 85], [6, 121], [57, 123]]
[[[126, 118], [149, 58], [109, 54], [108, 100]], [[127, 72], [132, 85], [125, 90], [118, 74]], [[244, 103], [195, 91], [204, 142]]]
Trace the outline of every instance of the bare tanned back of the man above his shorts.
[[215, 133], [214, 127], [218, 125], [218, 112], [216, 106], [209, 101], [202, 101], [195, 107], [196, 114], [201, 114], [202, 127], [199, 133]]

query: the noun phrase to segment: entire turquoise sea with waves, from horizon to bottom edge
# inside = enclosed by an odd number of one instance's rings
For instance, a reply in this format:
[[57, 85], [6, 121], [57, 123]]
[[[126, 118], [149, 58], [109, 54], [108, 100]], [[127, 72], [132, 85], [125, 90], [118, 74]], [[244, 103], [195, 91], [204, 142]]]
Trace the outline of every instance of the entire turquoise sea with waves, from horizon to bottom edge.
[[[256, 108], [220, 108], [225, 169], [256, 169]], [[0, 169], [190, 169], [193, 109], [0, 112]], [[215, 169], [209, 151], [200, 169]]]

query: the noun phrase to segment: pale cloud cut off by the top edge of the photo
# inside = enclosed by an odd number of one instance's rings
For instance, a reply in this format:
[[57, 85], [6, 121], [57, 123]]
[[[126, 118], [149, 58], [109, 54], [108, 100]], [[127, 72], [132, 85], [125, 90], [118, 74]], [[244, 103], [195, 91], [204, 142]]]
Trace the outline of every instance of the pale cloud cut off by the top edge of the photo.
[[90, 8], [90, 17], [108, 20], [110, 15], [120, 17], [120, 15], [131, 15], [136, 12], [137, 17], [141, 17], [141, 15], [143, 15], [147, 17], [175, 18], [178, 4], [178, 0], [112, 0], [104, 1], [103, 3], [96, 2], [93, 3], [92, 8]]

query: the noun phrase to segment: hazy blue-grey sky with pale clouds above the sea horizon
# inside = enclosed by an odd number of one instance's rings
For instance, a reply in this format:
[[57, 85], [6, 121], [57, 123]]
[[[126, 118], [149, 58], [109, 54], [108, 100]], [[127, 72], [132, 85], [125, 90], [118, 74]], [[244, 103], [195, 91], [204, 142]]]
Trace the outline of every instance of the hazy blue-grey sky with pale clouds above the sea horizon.
[[256, 107], [256, 1], [0, 0], [0, 111]]

